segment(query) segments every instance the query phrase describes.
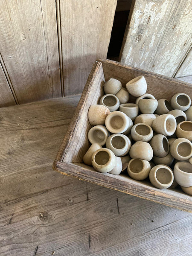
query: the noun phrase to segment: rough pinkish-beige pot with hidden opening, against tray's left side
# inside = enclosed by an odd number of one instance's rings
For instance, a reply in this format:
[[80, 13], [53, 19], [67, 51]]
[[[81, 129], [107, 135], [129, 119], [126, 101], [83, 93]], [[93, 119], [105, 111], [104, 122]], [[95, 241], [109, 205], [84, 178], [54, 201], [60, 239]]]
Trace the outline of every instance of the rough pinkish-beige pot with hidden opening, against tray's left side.
[[88, 111], [90, 125], [105, 125], [105, 119], [110, 110], [103, 105], [91, 105]]

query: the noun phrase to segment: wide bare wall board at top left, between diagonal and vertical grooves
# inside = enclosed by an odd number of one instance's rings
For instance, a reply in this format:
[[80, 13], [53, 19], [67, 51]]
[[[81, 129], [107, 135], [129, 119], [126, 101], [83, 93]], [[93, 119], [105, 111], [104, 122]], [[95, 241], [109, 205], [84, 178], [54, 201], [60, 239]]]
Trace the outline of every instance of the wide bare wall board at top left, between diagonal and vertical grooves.
[[54, 0], [0, 2], [0, 52], [18, 102], [61, 96]]

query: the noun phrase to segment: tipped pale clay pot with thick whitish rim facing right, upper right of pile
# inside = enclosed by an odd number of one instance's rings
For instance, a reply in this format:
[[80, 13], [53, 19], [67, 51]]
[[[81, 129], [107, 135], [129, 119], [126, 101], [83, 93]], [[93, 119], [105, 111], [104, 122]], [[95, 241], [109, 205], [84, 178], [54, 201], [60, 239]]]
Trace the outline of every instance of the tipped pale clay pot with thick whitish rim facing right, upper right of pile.
[[154, 119], [152, 128], [157, 134], [171, 136], [175, 133], [177, 123], [174, 116], [170, 114], [163, 114]]

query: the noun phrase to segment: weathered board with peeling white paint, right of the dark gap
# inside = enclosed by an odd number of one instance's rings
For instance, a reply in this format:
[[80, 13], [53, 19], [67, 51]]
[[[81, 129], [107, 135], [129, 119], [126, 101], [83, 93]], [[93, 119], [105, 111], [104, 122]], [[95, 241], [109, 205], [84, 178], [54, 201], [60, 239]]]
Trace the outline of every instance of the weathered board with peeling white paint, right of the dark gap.
[[192, 44], [191, 5], [191, 0], [134, 0], [121, 62], [174, 76]]

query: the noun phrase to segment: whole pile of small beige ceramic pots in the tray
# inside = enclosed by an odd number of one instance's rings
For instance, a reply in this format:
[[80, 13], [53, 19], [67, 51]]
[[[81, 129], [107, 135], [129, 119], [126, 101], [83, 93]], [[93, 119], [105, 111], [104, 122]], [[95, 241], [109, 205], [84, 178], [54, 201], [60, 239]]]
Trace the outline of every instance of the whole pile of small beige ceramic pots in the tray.
[[[192, 106], [185, 93], [171, 101], [155, 99], [144, 76], [128, 81], [109, 79], [99, 105], [91, 105], [88, 132], [92, 144], [83, 157], [102, 173], [119, 175], [127, 169], [135, 180], [149, 177], [159, 188], [178, 184], [192, 195]], [[130, 94], [135, 103], [128, 103]]]

